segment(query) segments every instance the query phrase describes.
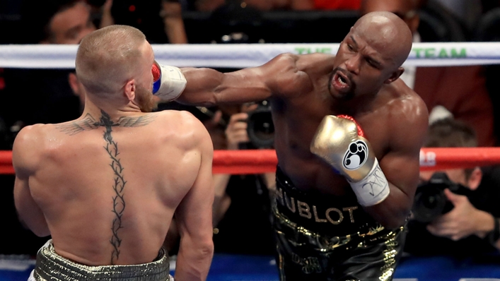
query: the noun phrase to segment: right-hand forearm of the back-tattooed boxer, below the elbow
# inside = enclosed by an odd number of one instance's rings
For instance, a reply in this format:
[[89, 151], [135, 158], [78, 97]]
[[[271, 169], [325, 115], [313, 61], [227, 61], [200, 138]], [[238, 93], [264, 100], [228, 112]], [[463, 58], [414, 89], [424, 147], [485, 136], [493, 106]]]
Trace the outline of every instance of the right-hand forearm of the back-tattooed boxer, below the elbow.
[[214, 244], [211, 239], [190, 239], [183, 237], [180, 241], [175, 280], [206, 280], [211, 259], [214, 256]]

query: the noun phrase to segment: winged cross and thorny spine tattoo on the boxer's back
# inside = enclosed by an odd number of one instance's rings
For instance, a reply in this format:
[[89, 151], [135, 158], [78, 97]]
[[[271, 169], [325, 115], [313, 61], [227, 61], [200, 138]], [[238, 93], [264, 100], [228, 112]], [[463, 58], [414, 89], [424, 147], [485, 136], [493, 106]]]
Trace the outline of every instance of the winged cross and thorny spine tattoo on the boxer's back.
[[101, 110], [100, 119], [97, 121], [91, 114], [87, 114], [82, 120], [73, 121], [68, 124], [62, 124], [57, 126], [62, 132], [69, 134], [70, 136], [76, 135], [81, 131], [93, 130], [96, 128], [104, 127], [105, 131], [103, 138], [106, 141], [104, 146], [107, 154], [111, 158], [110, 167], [113, 171], [113, 186], [112, 189], [115, 191], [115, 196], [112, 197], [112, 213], [115, 214], [115, 218], [112, 220], [111, 225], [111, 239], [110, 243], [112, 245], [111, 252], [111, 264], [114, 265], [115, 261], [120, 258], [120, 245], [122, 244], [122, 239], [118, 235], [118, 231], [123, 228], [122, 226], [122, 216], [125, 210], [125, 199], [124, 199], [124, 189], [127, 181], [124, 179], [123, 170], [124, 167], [120, 162], [120, 152], [118, 151], [118, 143], [113, 140], [111, 132], [112, 127], [138, 127], [146, 126], [153, 121], [153, 117], [149, 116], [139, 116], [139, 117], [120, 117], [117, 122], [111, 120], [109, 114]]

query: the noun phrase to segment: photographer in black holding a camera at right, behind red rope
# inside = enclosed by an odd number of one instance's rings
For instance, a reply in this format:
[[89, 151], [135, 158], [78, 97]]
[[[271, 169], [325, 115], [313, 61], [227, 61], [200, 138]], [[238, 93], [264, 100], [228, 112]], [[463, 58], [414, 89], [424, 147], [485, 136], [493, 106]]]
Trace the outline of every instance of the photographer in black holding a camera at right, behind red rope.
[[[429, 126], [428, 132], [424, 147], [477, 147], [472, 128], [454, 119], [438, 120]], [[498, 175], [496, 169], [475, 167], [421, 172], [405, 251], [415, 255], [450, 256], [497, 253], [500, 249], [500, 181], [494, 179]], [[441, 190], [441, 195], [426, 197], [424, 194], [429, 194], [432, 188]], [[427, 204], [422, 203], [424, 201]], [[450, 208], [445, 208], [446, 205]], [[442, 210], [436, 210], [438, 206], [443, 206]]]

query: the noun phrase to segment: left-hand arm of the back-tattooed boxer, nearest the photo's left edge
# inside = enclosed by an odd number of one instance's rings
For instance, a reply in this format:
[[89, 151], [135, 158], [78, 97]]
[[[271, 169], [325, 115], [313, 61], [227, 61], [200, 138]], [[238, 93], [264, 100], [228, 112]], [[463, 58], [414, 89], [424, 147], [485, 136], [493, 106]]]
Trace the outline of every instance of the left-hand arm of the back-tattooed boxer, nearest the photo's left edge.
[[19, 220], [39, 237], [50, 235], [45, 216], [31, 196], [29, 176], [33, 172], [32, 143], [33, 126], [23, 128], [18, 133], [12, 149], [12, 164], [16, 171], [14, 181], [14, 204]]

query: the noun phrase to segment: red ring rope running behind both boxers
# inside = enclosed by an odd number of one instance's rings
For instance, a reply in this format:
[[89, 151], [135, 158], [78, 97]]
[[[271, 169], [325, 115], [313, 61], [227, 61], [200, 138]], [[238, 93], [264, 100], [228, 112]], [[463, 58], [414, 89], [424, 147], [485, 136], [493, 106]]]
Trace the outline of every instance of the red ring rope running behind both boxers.
[[[216, 174], [262, 174], [274, 172], [274, 150], [216, 150]], [[500, 164], [500, 148], [422, 148], [421, 170], [472, 168]], [[0, 150], [0, 174], [13, 174], [12, 151]]]

